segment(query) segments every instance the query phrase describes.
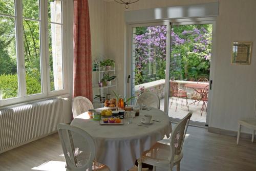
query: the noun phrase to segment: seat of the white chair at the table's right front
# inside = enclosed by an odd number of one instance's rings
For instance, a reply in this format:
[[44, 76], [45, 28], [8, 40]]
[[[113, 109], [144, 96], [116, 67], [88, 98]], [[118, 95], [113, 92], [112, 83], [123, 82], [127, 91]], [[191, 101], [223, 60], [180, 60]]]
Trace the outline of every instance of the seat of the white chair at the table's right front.
[[[170, 155], [170, 146], [166, 144], [162, 144], [157, 142], [154, 144], [148, 151], [145, 151], [141, 155], [142, 162], [147, 163], [161, 163], [161, 164], [169, 164], [170, 161], [168, 157]], [[180, 161], [183, 157], [182, 152], [179, 155], [174, 156], [174, 163]], [[154, 165], [154, 164], [153, 164]]]

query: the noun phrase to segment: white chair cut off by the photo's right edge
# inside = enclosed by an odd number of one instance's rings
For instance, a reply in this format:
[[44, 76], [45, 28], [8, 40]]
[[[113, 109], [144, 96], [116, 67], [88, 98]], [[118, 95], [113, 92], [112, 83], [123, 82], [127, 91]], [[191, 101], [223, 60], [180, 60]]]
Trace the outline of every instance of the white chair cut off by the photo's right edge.
[[[254, 114], [256, 115], [256, 99], [254, 100]], [[251, 142], [254, 141], [254, 135], [256, 130], [256, 117], [250, 118], [250, 119], [242, 119], [238, 121], [238, 139], [237, 139], [237, 145], [239, 144], [239, 138], [240, 138], [240, 132], [241, 132], [241, 126], [245, 126], [248, 129], [252, 129], [252, 136], [251, 136]]]

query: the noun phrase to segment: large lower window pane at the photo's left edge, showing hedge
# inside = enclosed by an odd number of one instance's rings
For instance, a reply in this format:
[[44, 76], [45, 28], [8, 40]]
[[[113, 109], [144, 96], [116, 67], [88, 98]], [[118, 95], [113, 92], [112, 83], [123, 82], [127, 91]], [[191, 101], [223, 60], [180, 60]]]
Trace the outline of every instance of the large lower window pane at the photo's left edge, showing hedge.
[[0, 99], [17, 96], [15, 19], [0, 16]]

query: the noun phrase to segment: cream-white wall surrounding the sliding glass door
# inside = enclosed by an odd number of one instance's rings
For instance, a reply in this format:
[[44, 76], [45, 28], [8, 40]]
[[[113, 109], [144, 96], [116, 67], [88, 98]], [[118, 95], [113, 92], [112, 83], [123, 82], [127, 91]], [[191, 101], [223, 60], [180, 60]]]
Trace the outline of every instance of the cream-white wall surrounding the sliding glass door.
[[[94, 1], [89, 1], [90, 3]], [[98, 1], [97, 1], [98, 2]], [[128, 10], [157, 8], [166, 6], [180, 6], [217, 2], [210, 0], [140, 0], [130, 5]], [[105, 2], [103, 2], [105, 3]], [[220, 11], [216, 22], [216, 68], [214, 73], [214, 99], [212, 100], [212, 115], [209, 126], [220, 129], [237, 131], [237, 121], [243, 117], [253, 116], [253, 99], [256, 97], [256, 1], [254, 0], [220, 0]], [[124, 53], [125, 53], [125, 22], [124, 7], [115, 2], [106, 3], [105, 30], [106, 42], [103, 45], [107, 56], [117, 63], [117, 77], [119, 79], [119, 93], [123, 93]], [[91, 13], [90, 13], [91, 14]], [[91, 20], [93, 17], [91, 16]], [[93, 33], [92, 33], [93, 34]], [[104, 34], [103, 34], [104, 35]], [[93, 39], [93, 36], [92, 36]], [[253, 41], [250, 66], [230, 65], [232, 41]], [[94, 41], [94, 40], [92, 40]], [[95, 51], [95, 49], [94, 49]], [[96, 53], [96, 52], [95, 52]]]

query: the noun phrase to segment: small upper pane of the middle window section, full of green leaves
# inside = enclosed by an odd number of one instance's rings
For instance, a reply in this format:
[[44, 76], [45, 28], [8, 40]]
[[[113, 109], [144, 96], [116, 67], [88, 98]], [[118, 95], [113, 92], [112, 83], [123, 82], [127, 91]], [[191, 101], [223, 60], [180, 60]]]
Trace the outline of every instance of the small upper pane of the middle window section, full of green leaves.
[[23, 16], [33, 19], [39, 19], [39, 1], [23, 0]]

